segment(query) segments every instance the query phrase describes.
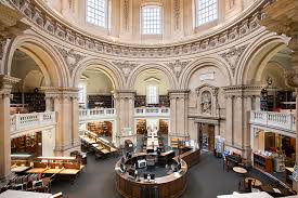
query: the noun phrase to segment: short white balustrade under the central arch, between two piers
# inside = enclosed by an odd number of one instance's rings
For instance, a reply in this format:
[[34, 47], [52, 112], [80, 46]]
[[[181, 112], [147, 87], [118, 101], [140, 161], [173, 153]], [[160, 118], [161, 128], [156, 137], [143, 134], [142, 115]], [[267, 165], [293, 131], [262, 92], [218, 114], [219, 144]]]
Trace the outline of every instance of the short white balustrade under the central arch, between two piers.
[[147, 107], [134, 108], [134, 117], [170, 117], [170, 108]]

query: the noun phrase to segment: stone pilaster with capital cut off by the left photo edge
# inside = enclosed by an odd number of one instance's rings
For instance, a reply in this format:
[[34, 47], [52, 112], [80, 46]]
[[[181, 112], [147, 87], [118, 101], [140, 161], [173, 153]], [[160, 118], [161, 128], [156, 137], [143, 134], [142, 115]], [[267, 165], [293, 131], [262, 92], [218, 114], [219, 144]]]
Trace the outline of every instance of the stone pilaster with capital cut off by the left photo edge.
[[11, 175], [10, 94], [20, 79], [0, 75], [0, 183]]

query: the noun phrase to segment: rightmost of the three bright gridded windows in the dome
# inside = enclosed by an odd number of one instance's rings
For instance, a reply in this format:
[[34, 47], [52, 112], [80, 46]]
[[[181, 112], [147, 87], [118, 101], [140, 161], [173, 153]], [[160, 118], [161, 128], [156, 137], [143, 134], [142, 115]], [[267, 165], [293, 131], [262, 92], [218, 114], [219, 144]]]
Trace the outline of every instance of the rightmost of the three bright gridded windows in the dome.
[[218, 18], [218, 0], [196, 0], [196, 26]]

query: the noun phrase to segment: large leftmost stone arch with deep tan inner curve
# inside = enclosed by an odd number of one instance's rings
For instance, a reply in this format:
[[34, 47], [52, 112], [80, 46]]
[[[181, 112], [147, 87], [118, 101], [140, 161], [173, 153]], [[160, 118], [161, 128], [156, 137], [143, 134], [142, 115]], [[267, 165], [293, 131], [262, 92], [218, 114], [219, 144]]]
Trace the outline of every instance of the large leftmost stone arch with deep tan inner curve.
[[37, 35], [23, 35], [12, 40], [3, 58], [4, 74], [10, 75], [13, 55], [17, 49], [37, 63], [44, 76], [46, 85], [68, 87], [69, 74], [60, 53]]

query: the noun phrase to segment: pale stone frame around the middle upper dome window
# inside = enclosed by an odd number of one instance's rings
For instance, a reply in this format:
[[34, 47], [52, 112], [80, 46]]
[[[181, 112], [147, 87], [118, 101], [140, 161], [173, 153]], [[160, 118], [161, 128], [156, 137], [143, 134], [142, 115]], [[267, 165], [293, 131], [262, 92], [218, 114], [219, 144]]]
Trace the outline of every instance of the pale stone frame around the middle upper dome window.
[[[150, 32], [144, 32], [144, 17], [143, 17], [143, 10], [145, 8], [153, 8], [153, 6], [156, 6], [160, 10], [160, 18], [159, 18], [159, 32], [155, 34], [150, 34]], [[153, 24], [154, 25], [154, 24]], [[163, 4], [159, 4], [159, 3], [146, 3], [146, 4], [142, 4], [141, 5], [141, 9], [140, 9], [140, 34], [143, 35], [143, 36], [160, 36], [164, 34], [164, 6]]]

